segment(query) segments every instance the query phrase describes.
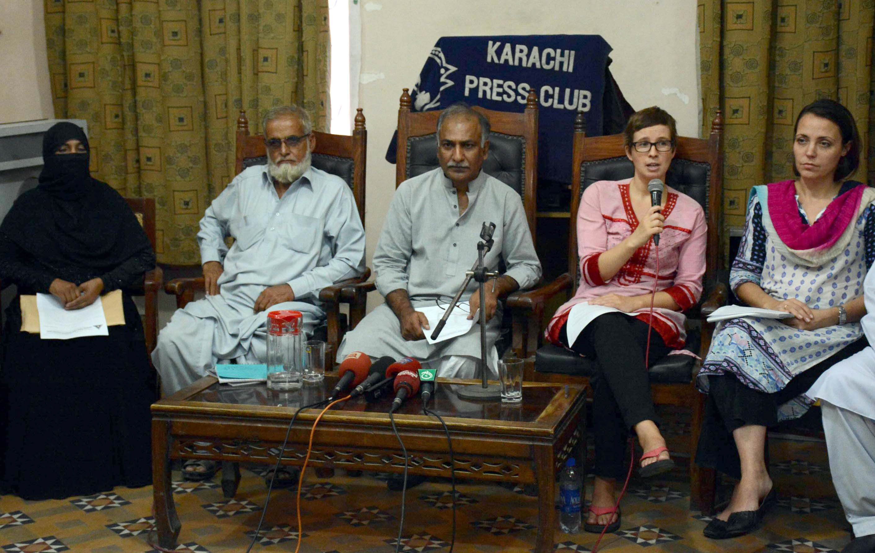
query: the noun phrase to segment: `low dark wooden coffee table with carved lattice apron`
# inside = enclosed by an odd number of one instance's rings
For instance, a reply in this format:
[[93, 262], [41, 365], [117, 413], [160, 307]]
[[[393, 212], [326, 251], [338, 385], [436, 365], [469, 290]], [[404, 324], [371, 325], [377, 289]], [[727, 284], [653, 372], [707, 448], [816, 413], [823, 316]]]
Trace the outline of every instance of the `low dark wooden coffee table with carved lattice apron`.
[[[318, 402], [337, 379], [276, 392], [263, 384], [220, 385], [212, 376], [152, 405], [152, 471], [158, 542], [176, 546], [181, 524], [173, 503], [171, 459], [213, 459], [227, 463], [274, 465], [291, 416], [301, 405]], [[518, 407], [498, 401], [459, 399], [453, 389], [478, 381], [438, 379], [429, 409], [450, 429], [457, 478], [537, 484], [536, 551], [553, 550], [556, 528], [556, 474], [569, 455], [583, 462], [584, 387], [525, 382]], [[393, 395], [394, 397], [394, 395]], [[348, 470], [403, 472], [404, 458], [388, 418], [390, 401], [356, 398], [332, 409], [318, 423], [309, 465]], [[303, 465], [310, 429], [318, 411], [306, 409], [295, 420], [283, 465]], [[450, 476], [444, 429], [422, 414], [416, 396], [402, 405], [395, 425], [410, 456], [409, 473]], [[196, 444], [197, 442], [197, 444]], [[225, 471], [223, 488], [233, 496], [239, 470]], [[583, 472], [583, 471], [581, 471]], [[416, 521], [408, 521], [413, 527]]]

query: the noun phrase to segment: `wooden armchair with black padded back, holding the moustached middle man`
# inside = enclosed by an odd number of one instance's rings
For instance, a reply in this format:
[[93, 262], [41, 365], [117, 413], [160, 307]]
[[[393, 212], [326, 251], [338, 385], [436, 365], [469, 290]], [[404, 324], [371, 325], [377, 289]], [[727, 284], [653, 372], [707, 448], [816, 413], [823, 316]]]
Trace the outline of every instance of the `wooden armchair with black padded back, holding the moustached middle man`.
[[[408, 88], [402, 89], [398, 108], [398, 153], [395, 165], [395, 188], [407, 179], [440, 166], [437, 161], [437, 119], [443, 109], [410, 111]], [[528, 229], [535, 240], [535, 191], [538, 165], [538, 101], [534, 91], [528, 93], [522, 113], [494, 111], [474, 106], [489, 119], [489, 156], [482, 171], [510, 186], [522, 199]], [[367, 293], [376, 290], [373, 282], [355, 284], [346, 292]], [[510, 311], [505, 311], [507, 315]], [[514, 319], [514, 325], [516, 320]]]

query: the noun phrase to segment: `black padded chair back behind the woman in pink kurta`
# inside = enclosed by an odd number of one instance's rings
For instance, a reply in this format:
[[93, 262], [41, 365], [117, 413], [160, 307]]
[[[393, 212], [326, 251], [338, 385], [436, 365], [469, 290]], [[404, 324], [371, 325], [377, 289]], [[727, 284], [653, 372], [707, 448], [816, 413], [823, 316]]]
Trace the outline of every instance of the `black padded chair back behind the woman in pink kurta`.
[[[608, 158], [587, 161], [580, 165], [580, 193], [599, 180], [631, 179], [634, 166], [628, 158]], [[711, 182], [711, 165], [704, 162], [675, 159], [669, 166], [665, 182], [672, 188], [699, 202], [708, 218], [708, 192]]]

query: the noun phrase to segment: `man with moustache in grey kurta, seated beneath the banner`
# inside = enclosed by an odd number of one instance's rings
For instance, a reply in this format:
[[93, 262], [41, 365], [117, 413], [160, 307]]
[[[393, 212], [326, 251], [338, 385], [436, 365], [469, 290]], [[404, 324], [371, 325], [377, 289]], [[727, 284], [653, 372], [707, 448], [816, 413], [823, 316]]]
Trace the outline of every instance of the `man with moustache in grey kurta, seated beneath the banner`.
[[[486, 117], [464, 105], [444, 110], [438, 122], [437, 158], [441, 166], [405, 180], [395, 191], [374, 251], [376, 286], [386, 304], [368, 313], [347, 332], [339, 354], [355, 351], [371, 357], [412, 357], [430, 363], [445, 377], [472, 377], [480, 356], [479, 325], [457, 338], [430, 345], [429, 330], [416, 308], [447, 304], [477, 260], [483, 222], [495, 223], [495, 241], [486, 266], [504, 274], [486, 283], [487, 364], [496, 372], [495, 340], [500, 327], [498, 297], [528, 288], [541, 277], [541, 264], [528, 229], [520, 194], [480, 171], [489, 150]], [[479, 306], [473, 280], [462, 295]], [[472, 313], [475, 320], [477, 313]]]

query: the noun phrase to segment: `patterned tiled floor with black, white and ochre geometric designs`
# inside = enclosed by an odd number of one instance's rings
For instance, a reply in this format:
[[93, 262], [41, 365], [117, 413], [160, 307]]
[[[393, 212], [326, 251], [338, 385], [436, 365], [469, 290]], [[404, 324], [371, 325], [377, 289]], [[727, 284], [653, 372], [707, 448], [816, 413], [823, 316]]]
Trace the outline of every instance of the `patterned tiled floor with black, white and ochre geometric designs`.
[[[672, 439], [683, 437], [669, 433]], [[848, 525], [830, 483], [823, 443], [771, 440], [772, 472], [779, 504], [753, 535], [716, 542], [704, 538], [708, 521], [690, 509], [685, 464], [655, 480], [633, 479], [623, 500], [620, 530], [606, 535], [600, 550], [620, 553], [792, 551], [832, 553], [849, 541]], [[222, 497], [216, 482], [176, 482], [182, 531], [178, 551], [242, 552], [255, 535], [266, 490], [263, 480], [244, 470], [234, 500]], [[179, 479], [179, 474], [176, 474]], [[119, 487], [66, 500], [25, 501], [0, 496], [0, 553], [151, 552], [155, 539], [151, 487]], [[534, 547], [537, 503], [518, 486], [458, 485], [456, 551], [528, 553]], [[302, 494], [302, 553], [391, 553], [395, 550], [399, 493], [374, 475], [343, 471], [332, 479], [308, 472]], [[407, 493], [402, 551], [449, 550], [451, 493], [448, 482], [427, 482]], [[297, 546], [295, 495], [273, 493], [259, 542], [253, 551], [294, 551]], [[556, 551], [590, 551], [596, 535], [556, 531]]]

